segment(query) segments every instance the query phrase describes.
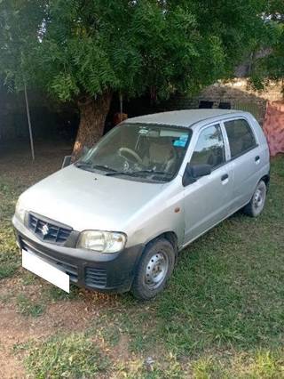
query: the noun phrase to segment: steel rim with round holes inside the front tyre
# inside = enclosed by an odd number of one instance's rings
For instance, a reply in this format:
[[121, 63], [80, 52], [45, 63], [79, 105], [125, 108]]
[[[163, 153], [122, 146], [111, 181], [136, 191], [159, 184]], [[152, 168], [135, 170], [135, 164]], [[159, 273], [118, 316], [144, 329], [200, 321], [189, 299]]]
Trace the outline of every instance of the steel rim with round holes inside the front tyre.
[[162, 285], [169, 270], [169, 258], [163, 252], [155, 253], [146, 265], [145, 284], [154, 289]]

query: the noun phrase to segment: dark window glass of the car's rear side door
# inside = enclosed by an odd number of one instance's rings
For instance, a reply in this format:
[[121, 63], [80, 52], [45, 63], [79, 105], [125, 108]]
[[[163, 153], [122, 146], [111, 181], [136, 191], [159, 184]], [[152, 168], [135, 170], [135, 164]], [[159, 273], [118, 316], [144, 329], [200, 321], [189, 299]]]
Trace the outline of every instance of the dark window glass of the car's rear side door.
[[256, 138], [248, 122], [243, 118], [225, 121], [231, 157], [238, 157], [249, 149], [256, 147]]

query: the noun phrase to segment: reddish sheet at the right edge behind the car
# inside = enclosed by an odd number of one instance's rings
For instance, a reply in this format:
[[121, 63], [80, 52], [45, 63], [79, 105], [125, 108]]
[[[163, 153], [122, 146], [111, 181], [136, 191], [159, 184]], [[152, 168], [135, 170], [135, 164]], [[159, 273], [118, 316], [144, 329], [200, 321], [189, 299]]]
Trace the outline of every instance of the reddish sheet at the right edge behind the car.
[[284, 101], [267, 102], [264, 133], [270, 155], [274, 157], [277, 153], [284, 153]]

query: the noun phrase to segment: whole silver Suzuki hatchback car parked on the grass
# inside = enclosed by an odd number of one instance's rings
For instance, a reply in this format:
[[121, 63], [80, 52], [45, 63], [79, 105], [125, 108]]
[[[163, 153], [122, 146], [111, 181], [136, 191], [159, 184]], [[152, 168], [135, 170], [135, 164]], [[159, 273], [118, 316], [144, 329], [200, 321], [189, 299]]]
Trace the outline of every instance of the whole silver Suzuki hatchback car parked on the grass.
[[136, 117], [24, 192], [13, 225], [23, 266], [69, 291], [162, 291], [177, 253], [243, 209], [264, 209], [269, 149], [246, 112]]

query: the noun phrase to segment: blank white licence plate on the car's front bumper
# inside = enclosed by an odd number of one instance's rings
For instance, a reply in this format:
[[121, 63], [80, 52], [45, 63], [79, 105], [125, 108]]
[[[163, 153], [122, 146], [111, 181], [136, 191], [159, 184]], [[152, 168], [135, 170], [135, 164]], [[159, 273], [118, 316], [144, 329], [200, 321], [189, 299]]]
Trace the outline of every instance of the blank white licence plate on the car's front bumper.
[[50, 263], [43, 261], [43, 259], [36, 254], [22, 250], [22, 266], [39, 277], [49, 281], [54, 286], [59, 286], [59, 288], [69, 294], [69, 275], [52, 266]]

